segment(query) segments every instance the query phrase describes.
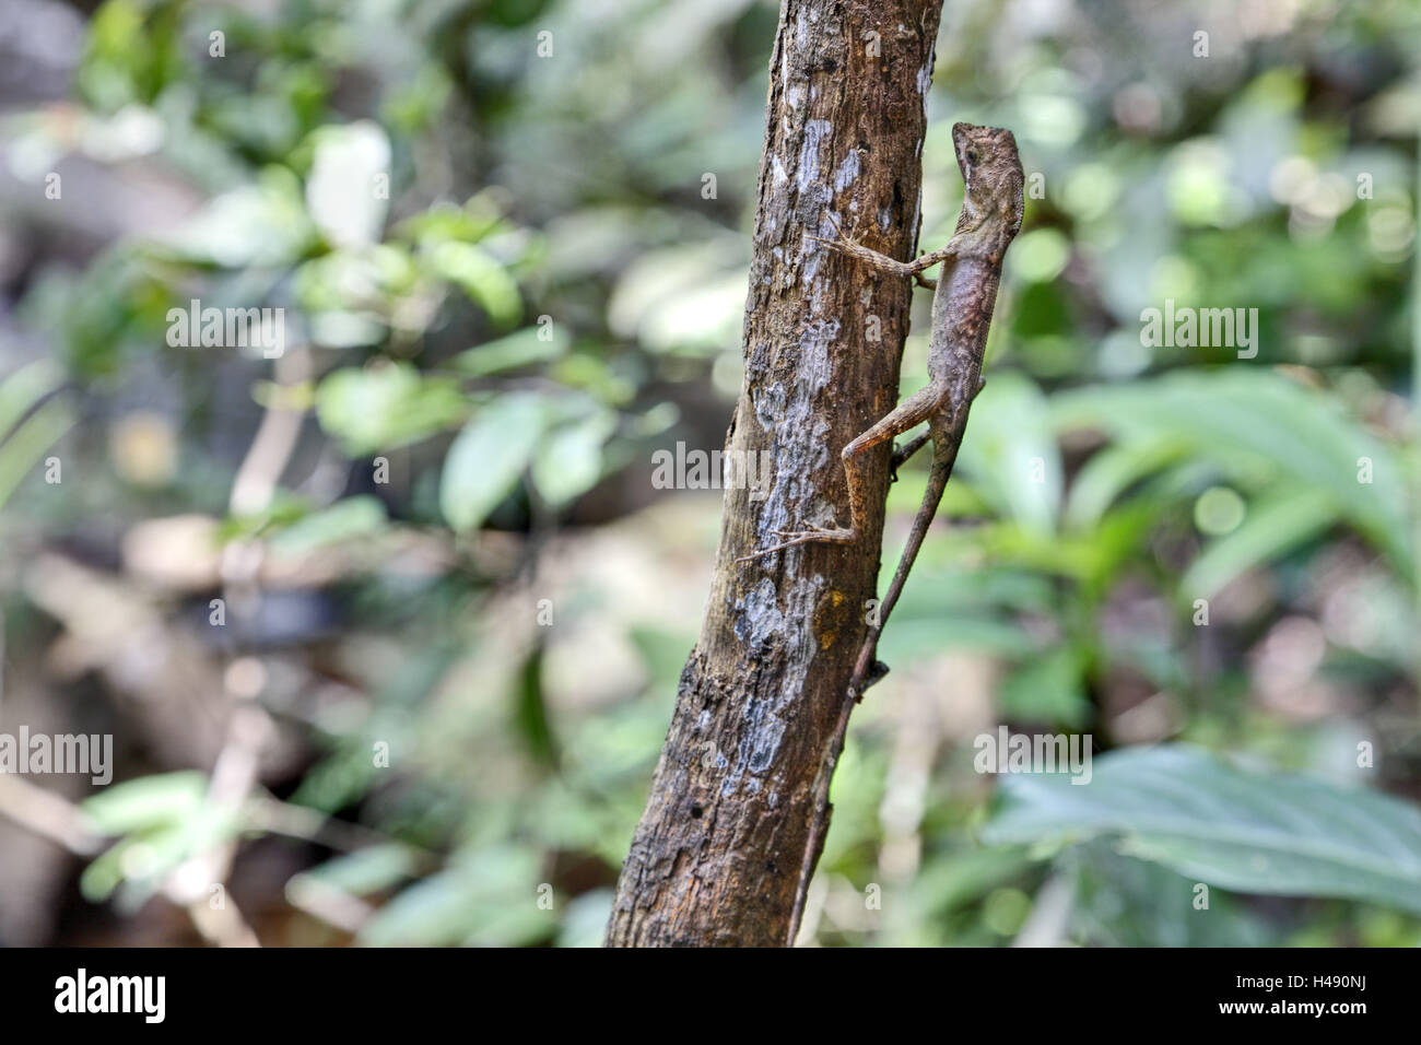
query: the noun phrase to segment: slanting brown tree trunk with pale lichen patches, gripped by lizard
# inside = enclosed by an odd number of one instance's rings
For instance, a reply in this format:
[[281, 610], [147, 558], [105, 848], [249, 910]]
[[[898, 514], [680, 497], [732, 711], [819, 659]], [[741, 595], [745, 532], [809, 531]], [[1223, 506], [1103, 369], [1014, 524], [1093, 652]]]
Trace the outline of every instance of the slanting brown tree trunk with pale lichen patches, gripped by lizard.
[[[814, 237], [841, 227], [881, 253], [914, 256], [941, 10], [941, 0], [782, 3], [745, 385], [726, 435], [729, 461], [770, 461], [770, 479], [728, 483], [701, 638], [622, 866], [608, 945], [793, 943], [875, 594], [882, 496], [857, 545], [736, 557], [780, 529], [847, 525], [838, 454], [897, 401], [908, 280]], [[890, 451], [872, 462], [882, 495]]]

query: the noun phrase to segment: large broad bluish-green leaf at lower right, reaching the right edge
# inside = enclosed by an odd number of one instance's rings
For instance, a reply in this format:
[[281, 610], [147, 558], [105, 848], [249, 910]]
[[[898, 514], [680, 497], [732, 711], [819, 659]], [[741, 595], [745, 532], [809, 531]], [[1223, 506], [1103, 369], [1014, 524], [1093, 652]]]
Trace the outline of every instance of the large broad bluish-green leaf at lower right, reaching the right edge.
[[983, 837], [1094, 836], [1221, 889], [1336, 896], [1421, 913], [1421, 810], [1361, 788], [1242, 769], [1195, 748], [1131, 748], [1063, 773], [1005, 776]]

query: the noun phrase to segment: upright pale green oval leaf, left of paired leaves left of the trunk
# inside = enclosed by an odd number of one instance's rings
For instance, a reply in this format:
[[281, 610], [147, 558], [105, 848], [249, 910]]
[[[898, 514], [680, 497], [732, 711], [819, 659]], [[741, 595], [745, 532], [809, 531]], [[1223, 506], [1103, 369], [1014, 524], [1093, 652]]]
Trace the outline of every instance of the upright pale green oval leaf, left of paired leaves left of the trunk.
[[445, 458], [439, 508], [449, 525], [473, 530], [513, 492], [547, 425], [541, 397], [503, 395], [459, 432]]

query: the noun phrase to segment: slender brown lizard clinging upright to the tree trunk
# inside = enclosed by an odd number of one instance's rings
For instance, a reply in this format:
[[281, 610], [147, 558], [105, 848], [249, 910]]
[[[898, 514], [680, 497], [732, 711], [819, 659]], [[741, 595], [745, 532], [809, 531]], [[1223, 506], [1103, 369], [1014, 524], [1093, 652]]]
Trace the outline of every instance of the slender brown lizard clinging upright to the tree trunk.
[[[914, 279], [934, 289], [926, 387], [898, 404], [892, 412], [844, 446], [840, 454], [848, 483], [847, 527], [804, 523], [801, 530], [779, 530], [776, 536], [784, 540], [736, 560], [750, 562], [796, 545], [816, 542], [857, 543], [864, 533], [871, 496], [864, 454], [904, 435], [924, 421], [928, 422], [925, 432], [902, 448], [894, 448], [894, 478], [898, 466], [922, 449], [929, 439], [934, 451], [932, 469], [898, 569], [875, 620], [870, 623], [868, 636], [850, 678], [850, 695], [854, 701], [861, 701], [863, 691], [888, 672], [885, 665], [874, 660], [878, 636], [902, 593], [908, 572], [942, 502], [966, 428], [968, 409], [985, 384], [982, 357], [1002, 279], [1002, 259], [1022, 229], [1025, 176], [1012, 132], [996, 127], [955, 124], [952, 144], [962, 172], [963, 193], [962, 213], [945, 247], [922, 254], [914, 262], [899, 262], [847, 239], [843, 232], [836, 240], [818, 240], [890, 276]], [[944, 267], [934, 283], [922, 273], [938, 263], [944, 263]]]

